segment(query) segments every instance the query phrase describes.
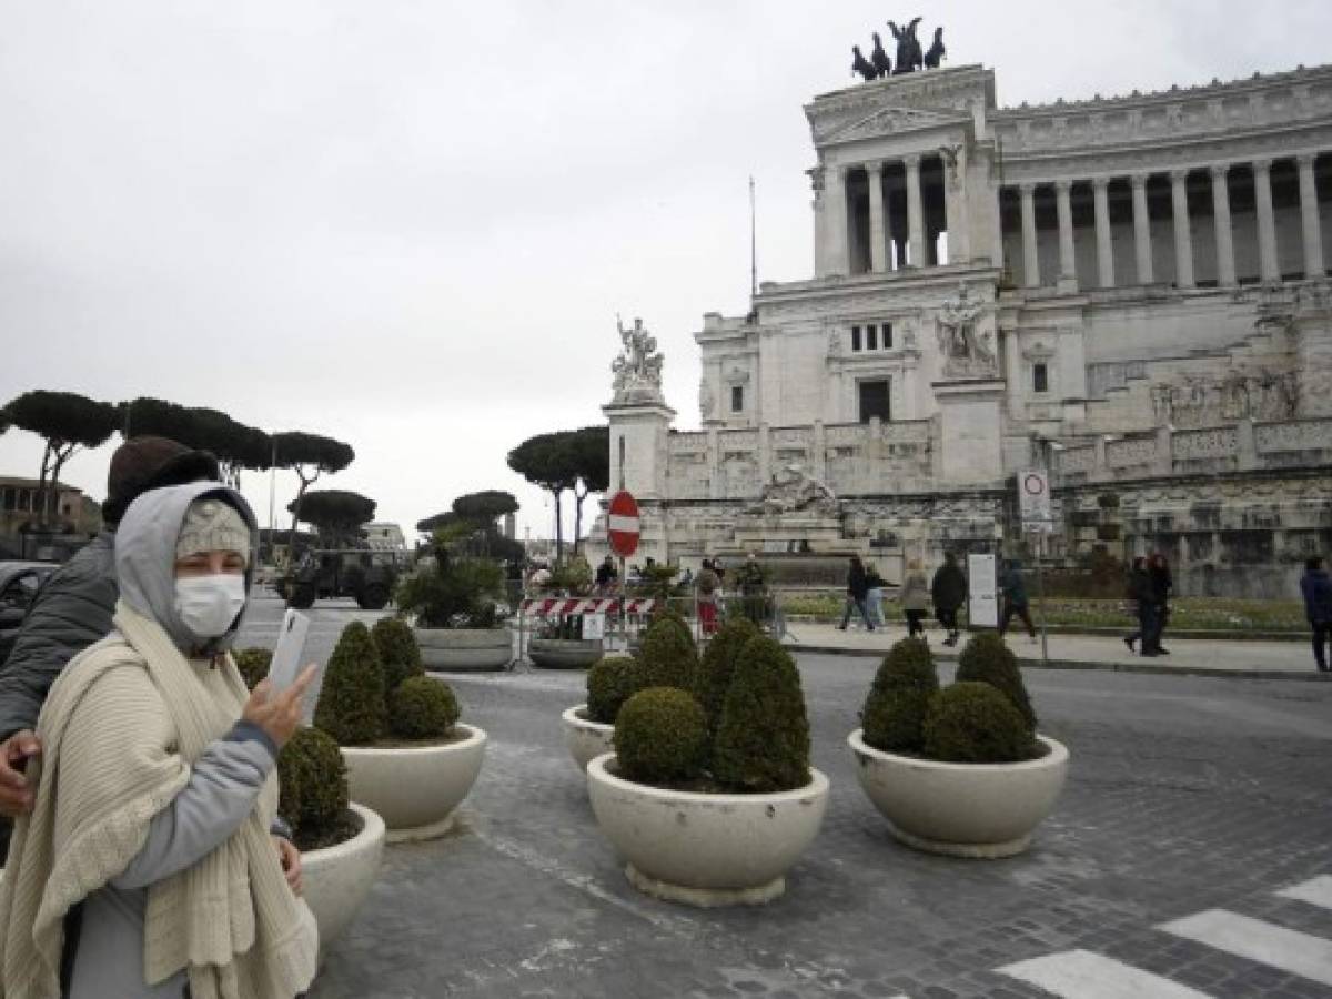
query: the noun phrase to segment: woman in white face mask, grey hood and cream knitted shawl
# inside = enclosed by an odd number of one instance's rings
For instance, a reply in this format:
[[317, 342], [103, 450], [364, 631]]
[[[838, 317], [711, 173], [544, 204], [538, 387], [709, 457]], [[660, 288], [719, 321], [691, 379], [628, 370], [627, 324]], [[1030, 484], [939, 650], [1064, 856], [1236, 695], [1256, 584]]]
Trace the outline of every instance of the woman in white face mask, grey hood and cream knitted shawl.
[[145, 493], [116, 538], [115, 631], [51, 689], [48, 771], [0, 886], [0, 980], [39, 999], [282, 999], [314, 920], [269, 839], [274, 762], [313, 669], [254, 693], [228, 650], [257, 526], [240, 493]]

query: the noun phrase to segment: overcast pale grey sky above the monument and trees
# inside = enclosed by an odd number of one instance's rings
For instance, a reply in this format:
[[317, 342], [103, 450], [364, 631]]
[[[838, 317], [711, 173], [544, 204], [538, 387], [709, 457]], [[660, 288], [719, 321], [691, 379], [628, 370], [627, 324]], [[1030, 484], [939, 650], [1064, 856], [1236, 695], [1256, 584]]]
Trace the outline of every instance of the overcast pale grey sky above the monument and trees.
[[[316, 488], [410, 531], [602, 420], [615, 313], [698, 425], [705, 312], [813, 270], [801, 111], [927, 13], [1004, 105], [1328, 61], [1332, 4], [916, 8], [863, 0], [0, 0], [0, 404], [33, 388], [213, 406], [345, 440]], [[891, 48], [891, 39], [887, 39]], [[71, 461], [95, 498], [119, 437]], [[32, 434], [0, 473], [36, 476]], [[268, 519], [268, 476], [245, 480]], [[278, 509], [296, 477], [277, 477]], [[593, 505], [589, 503], [589, 514]], [[288, 519], [280, 517], [278, 522]]]

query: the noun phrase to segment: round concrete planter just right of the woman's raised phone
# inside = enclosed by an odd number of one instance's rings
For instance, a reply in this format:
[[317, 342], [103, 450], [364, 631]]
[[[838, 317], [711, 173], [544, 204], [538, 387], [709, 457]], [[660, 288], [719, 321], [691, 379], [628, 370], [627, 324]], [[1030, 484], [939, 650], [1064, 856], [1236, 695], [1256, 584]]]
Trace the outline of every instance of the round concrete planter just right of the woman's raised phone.
[[481, 773], [486, 734], [470, 725], [460, 742], [440, 746], [344, 746], [354, 801], [374, 809], [390, 843], [442, 836]]

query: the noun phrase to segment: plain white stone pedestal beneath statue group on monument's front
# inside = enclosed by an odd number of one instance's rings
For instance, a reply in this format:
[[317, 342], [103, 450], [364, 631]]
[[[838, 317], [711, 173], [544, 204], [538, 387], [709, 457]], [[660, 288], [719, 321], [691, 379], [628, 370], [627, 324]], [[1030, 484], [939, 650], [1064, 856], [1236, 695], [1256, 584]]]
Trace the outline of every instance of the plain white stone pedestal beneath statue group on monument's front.
[[944, 482], [994, 482], [1003, 478], [1004, 382], [936, 381], [939, 449], [935, 476]]

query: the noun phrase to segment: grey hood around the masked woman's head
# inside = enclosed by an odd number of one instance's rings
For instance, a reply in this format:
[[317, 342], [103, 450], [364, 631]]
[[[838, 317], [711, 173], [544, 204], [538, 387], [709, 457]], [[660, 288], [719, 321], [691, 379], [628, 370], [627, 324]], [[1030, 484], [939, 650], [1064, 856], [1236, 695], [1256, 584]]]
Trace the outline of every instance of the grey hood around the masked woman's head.
[[186, 651], [212, 654], [232, 646], [249, 603], [241, 610], [230, 631], [202, 643], [176, 614], [176, 539], [189, 505], [205, 496], [234, 506], [245, 518], [250, 531], [249, 567], [245, 570], [248, 591], [258, 562], [258, 521], [245, 497], [221, 482], [166, 486], [135, 500], [116, 530], [116, 581], [120, 585], [120, 598], [161, 625], [177, 646]]

